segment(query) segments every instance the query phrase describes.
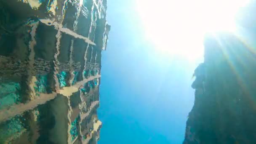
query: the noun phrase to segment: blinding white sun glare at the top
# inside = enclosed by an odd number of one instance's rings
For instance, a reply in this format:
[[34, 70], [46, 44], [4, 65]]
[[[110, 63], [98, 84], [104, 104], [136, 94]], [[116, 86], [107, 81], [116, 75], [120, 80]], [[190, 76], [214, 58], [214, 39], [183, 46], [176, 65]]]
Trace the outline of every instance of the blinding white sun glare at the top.
[[203, 58], [205, 32], [234, 31], [235, 14], [249, 0], [137, 0], [147, 38], [158, 52]]

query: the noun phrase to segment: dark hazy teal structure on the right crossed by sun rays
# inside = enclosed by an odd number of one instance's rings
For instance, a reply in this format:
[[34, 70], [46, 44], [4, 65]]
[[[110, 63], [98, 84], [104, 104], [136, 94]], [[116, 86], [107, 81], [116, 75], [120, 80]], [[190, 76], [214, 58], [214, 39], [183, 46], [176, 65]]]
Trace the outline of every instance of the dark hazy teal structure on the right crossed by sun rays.
[[255, 5], [240, 11], [240, 31], [205, 36], [183, 144], [256, 144]]

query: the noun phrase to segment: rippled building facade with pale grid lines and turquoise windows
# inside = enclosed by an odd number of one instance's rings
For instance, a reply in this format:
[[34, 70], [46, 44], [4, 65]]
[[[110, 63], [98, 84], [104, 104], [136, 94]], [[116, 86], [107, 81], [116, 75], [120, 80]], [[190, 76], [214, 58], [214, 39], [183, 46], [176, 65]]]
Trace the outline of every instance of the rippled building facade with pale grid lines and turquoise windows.
[[0, 0], [0, 144], [97, 143], [107, 0]]

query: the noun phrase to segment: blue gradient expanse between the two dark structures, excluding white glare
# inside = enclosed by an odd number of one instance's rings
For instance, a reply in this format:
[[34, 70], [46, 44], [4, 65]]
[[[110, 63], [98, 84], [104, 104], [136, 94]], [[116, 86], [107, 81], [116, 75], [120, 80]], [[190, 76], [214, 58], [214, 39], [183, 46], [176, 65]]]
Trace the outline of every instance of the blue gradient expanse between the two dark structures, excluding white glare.
[[134, 3], [108, 1], [111, 32], [102, 52], [99, 144], [181, 144], [197, 63], [155, 55]]

